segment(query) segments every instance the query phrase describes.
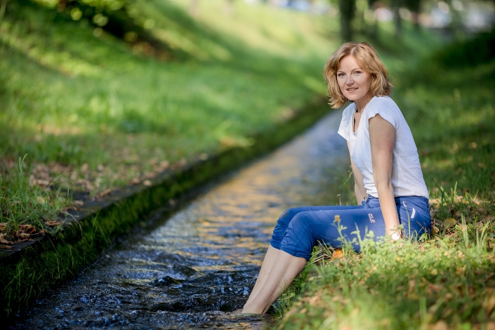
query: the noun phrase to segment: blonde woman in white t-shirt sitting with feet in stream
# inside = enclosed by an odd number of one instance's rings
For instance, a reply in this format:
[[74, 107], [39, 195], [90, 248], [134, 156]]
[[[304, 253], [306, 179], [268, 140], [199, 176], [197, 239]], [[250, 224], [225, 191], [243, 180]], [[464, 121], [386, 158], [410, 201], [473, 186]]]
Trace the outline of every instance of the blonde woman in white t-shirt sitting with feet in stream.
[[[317, 242], [341, 247], [343, 236], [359, 252], [356, 243], [370, 231], [376, 240], [417, 238], [430, 232], [428, 189], [418, 151], [402, 112], [388, 96], [392, 85], [387, 76], [378, 54], [365, 42], [344, 44], [327, 60], [324, 77], [331, 107], [351, 101], [338, 133], [348, 143], [361, 205], [284, 211], [243, 313], [267, 312], [303, 270]], [[341, 218], [340, 232], [336, 216]]]

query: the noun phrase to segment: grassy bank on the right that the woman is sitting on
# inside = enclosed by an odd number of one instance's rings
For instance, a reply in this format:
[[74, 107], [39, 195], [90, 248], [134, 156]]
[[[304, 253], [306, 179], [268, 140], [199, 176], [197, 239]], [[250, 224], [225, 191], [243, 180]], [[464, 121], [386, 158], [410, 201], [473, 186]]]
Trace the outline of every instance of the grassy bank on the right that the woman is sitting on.
[[[284, 329], [495, 326], [495, 62], [448, 68], [423, 61], [407, 71], [395, 77], [392, 96], [438, 202], [432, 213], [440, 233], [425, 244], [326, 258], [286, 312]], [[352, 202], [350, 186], [345, 196]]]

